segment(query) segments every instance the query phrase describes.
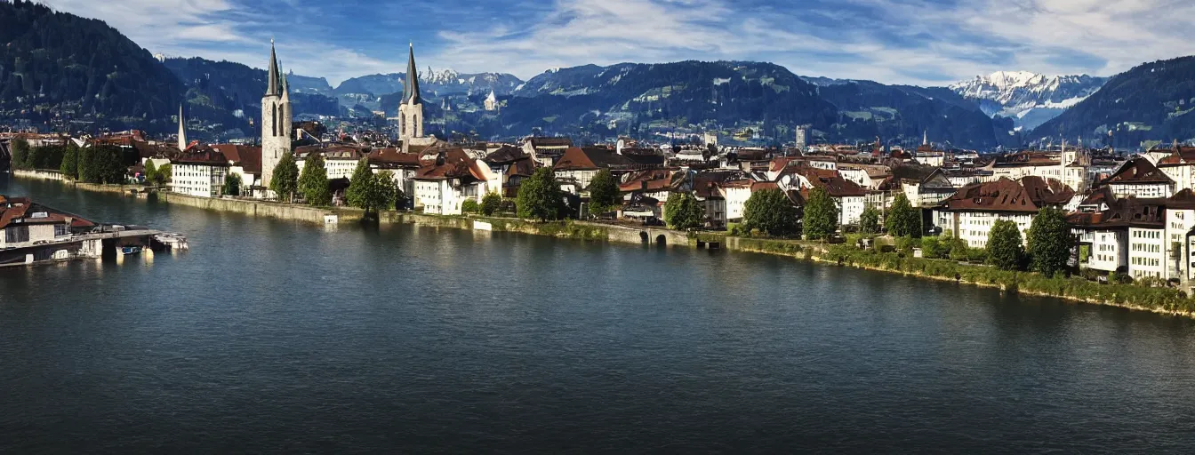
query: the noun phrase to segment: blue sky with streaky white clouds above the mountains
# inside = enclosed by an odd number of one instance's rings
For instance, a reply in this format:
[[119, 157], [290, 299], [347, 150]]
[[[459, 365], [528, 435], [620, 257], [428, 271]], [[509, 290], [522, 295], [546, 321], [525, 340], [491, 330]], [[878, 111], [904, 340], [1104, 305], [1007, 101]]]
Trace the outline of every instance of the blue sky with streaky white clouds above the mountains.
[[948, 85], [997, 70], [1113, 75], [1195, 54], [1191, 0], [43, 0], [153, 54], [332, 86], [406, 69], [511, 73], [681, 60], [768, 61], [799, 75]]

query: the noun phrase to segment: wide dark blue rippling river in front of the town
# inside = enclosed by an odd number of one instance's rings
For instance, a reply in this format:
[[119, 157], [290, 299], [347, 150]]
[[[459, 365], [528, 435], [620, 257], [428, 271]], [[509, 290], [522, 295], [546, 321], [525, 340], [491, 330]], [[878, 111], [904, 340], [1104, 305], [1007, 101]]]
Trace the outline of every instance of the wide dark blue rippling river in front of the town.
[[191, 244], [0, 269], [0, 453], [1195, 444], [1184, 319], [762, 254], [0, 193]]

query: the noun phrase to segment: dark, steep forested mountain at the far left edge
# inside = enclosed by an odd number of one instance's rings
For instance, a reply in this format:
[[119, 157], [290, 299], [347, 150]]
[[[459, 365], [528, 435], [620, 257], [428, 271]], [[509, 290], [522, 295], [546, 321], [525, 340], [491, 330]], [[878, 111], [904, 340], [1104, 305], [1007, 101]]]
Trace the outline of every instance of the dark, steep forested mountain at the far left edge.
[[116, 29], [41, 4], [0, 1], [0, 43], [2, 118], [167, 131], [186, 91]]

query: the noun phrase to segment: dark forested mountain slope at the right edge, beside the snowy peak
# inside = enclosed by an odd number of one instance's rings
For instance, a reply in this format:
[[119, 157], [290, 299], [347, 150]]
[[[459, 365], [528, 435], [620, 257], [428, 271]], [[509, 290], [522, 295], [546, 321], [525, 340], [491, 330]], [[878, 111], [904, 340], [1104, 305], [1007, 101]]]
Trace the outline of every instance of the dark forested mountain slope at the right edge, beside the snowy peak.
[[[1117, 74], [1103, 88], [1034, 135], [1104, 141], [1117, 147], [1195, 137], [1195, 56], [1145, 63]], [[1090, 143], [1090, 142], [1089, 142]], [[1104, 142], [1107, 143], [1107, 142]]]

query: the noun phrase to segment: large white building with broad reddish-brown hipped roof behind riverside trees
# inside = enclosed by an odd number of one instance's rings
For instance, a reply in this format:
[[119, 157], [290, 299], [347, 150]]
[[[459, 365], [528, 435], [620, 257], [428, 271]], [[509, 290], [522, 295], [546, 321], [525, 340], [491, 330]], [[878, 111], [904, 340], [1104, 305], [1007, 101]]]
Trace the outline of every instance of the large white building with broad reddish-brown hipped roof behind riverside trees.
[[1072, 197], [1074, 191], [1058, 180], [1001, 178], [960, 189], [934, 208], [933, 221], [937, 227], [967, 241], [967, 246], [982, 248], [987, 246], [995, 221], [1017, 223], [1022, 239], [1028, 240], [1029, 226], [1042, 208], [1061, 208]]

